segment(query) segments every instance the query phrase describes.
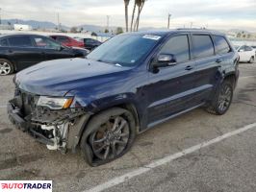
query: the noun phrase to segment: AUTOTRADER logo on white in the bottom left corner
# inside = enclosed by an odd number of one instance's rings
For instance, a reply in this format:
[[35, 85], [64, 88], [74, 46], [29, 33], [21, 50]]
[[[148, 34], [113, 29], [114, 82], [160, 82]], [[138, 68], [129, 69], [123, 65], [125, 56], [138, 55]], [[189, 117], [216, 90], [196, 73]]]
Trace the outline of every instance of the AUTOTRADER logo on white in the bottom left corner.
[[52, 192], [52, 180], [0, 180], [1, 192]]

